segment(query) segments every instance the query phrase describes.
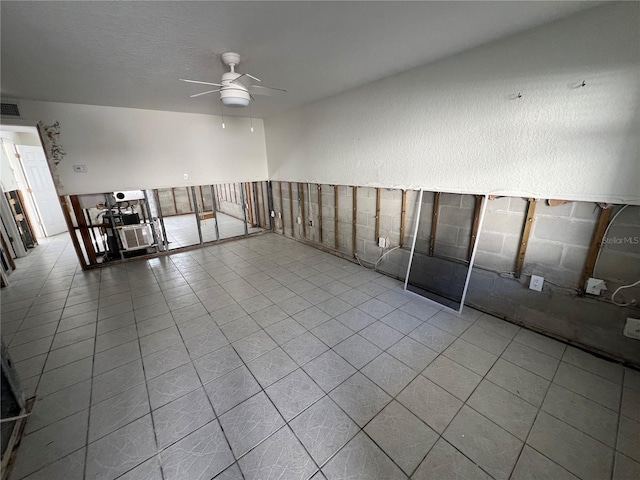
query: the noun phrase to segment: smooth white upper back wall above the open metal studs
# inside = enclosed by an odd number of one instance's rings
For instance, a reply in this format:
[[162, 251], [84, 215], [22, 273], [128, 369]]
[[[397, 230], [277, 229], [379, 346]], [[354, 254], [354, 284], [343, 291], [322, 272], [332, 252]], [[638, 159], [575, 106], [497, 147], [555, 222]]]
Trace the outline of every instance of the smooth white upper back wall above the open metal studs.
[[[263, 122], [188, 113], [20, 100], [33, 125], [60, 122], [65, 194], [260, 181], [267, 178]], [[22, 122], [24, 123], [24, 122]], [[88, 173], [75, 173], [86, 165]], [[183, 175], [189, 174], [189, 180]]]

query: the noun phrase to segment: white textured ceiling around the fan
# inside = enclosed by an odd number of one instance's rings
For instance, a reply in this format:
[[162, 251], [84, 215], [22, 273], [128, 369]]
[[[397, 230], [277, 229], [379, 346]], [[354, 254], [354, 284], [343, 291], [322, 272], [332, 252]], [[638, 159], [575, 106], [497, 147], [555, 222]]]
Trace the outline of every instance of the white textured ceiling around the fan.
[[239, 71], [288, 91], [256, 98], [252, 114], [270, 117], [596, 4], [3, 0], [2, 95], [219, 113], [178, 78], [218, 82], [236, 51]]

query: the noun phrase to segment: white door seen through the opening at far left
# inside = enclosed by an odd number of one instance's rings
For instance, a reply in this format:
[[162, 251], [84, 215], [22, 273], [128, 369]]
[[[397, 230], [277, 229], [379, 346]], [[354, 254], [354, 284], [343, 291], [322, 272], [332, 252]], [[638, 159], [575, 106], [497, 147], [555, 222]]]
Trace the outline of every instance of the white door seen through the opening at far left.
[[57, 235], [67, 231], [67, 223], [62, 215], [62, 208], [58, 200], [51, 172], [44, 151], [40, 147], [18, 145], [22, 157], [24, 171], [33, 190], [40, 217], [46, 235]]

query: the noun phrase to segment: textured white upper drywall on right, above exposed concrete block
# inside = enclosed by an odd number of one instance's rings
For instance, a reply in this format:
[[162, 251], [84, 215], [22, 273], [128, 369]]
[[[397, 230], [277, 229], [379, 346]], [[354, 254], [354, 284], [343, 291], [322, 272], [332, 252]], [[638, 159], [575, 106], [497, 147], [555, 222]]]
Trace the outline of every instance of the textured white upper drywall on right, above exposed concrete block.
[[639, 7], [591, 9], [267, 119], [269, 178], [640, 203]]

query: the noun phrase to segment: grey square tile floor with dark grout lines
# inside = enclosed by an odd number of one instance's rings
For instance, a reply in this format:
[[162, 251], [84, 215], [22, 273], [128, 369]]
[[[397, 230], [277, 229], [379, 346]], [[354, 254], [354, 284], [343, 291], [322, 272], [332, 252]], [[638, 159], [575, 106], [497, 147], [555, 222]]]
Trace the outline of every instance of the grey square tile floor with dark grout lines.
[[12, 480], [640, 478], [637, 371], [292, 240], [18, 265]]

